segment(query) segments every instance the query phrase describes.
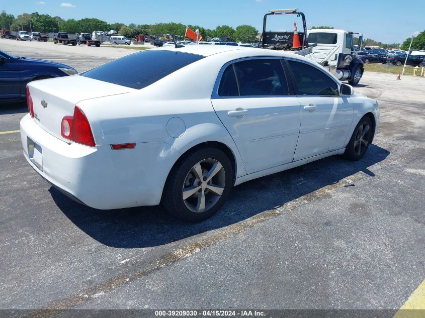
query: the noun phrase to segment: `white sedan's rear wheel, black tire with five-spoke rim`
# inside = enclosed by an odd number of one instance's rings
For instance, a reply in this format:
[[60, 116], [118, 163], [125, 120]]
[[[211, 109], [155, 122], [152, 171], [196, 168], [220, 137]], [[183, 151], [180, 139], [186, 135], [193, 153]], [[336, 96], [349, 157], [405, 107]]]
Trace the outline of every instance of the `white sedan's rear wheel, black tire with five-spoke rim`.
[[169, 213], [188, 222], [208, 219], [223, 205], [233, 183], [227, 155], [202, 147], [183, 157], [168, 175], [162, 203]]

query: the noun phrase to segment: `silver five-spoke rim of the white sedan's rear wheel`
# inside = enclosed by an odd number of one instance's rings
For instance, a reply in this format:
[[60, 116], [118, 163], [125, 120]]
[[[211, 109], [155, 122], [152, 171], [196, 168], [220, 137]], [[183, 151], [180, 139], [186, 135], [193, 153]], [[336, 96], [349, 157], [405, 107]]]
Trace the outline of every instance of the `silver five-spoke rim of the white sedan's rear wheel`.
[[195, 164], [183, 183], [183, 200], [187, 208], [202, 213], [213, 207], [223, 194], [226, 173], [215, 159], [204, 159]]

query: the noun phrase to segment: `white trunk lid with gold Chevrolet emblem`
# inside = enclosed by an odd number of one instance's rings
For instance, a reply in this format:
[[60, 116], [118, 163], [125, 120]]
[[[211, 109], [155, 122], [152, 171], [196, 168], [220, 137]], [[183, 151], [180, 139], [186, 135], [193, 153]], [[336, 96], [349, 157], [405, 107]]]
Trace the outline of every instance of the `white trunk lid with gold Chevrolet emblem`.
[[60, 134], [62, 118], [74, 114], [75, 105], [85, 99], [124, 94], [136, 89], [72, 75], [33, 81], [28, 84], [34, 105], [34, 121], [49, 134]]

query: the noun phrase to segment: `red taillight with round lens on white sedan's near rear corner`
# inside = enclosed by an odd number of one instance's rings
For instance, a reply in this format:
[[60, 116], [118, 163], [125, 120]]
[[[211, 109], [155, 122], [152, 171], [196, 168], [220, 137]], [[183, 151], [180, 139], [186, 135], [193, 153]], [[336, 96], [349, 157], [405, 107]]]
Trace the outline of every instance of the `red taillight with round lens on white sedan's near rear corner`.
[[89, 121], [77, 106], [74, 108], [74, 116], [65, 116], [62, 119], [60, 134], [76, 143], [95, 147], [95, 139]]

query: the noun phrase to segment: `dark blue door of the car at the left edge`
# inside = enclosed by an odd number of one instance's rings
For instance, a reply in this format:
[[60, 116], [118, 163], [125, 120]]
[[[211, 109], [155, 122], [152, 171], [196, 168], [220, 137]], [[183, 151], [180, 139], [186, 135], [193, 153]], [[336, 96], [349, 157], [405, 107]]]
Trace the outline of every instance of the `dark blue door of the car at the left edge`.
[[0, 99], [21, 96], [21, 75], [14, 59], [0, 52]]

